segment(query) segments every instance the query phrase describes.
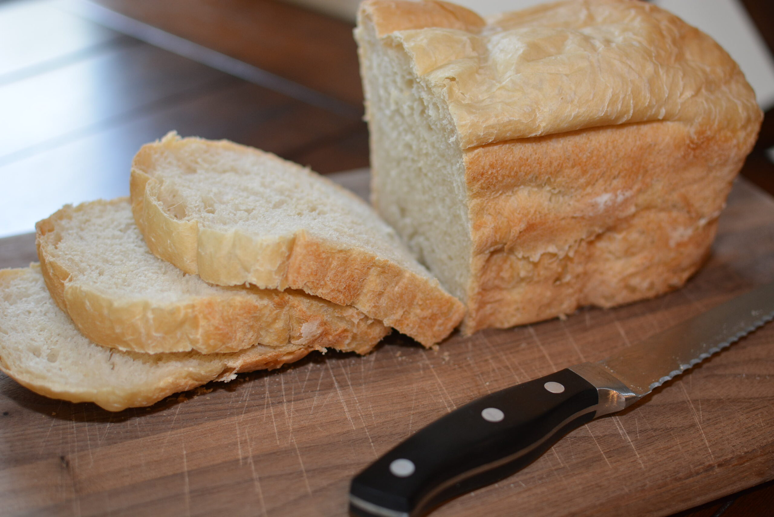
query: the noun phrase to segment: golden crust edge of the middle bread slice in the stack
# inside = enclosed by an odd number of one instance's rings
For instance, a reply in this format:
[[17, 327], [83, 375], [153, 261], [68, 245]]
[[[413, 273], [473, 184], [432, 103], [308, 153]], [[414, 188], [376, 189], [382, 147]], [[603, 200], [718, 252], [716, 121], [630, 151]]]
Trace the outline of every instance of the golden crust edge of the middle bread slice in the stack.
[[55, 258], [62, 238], [57, 222], [92, 204], [125, 204], [125, 198], [66, 206], [37, 224], [36, 245], [46, 286], [81, 334], [103, 346], [150, 354], [196, 350], [232, 352], [260, 343], [309, 350], [335, 348], [367, 353], [389, 327], [350, 306], [293, 291], [223, 289], [212, 296], [191, 296], [177, 303], [116, 298], [77, 275]]

